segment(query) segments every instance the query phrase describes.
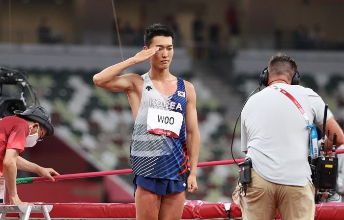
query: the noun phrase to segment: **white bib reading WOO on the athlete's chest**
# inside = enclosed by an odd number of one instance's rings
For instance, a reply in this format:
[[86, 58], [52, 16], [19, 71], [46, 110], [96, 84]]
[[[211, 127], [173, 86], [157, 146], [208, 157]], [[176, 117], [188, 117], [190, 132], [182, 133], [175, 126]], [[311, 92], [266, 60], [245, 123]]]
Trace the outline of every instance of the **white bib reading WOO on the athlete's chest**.
[[183, 115], [179, 112], [148, 108], [147, 132], [179, 138]]

